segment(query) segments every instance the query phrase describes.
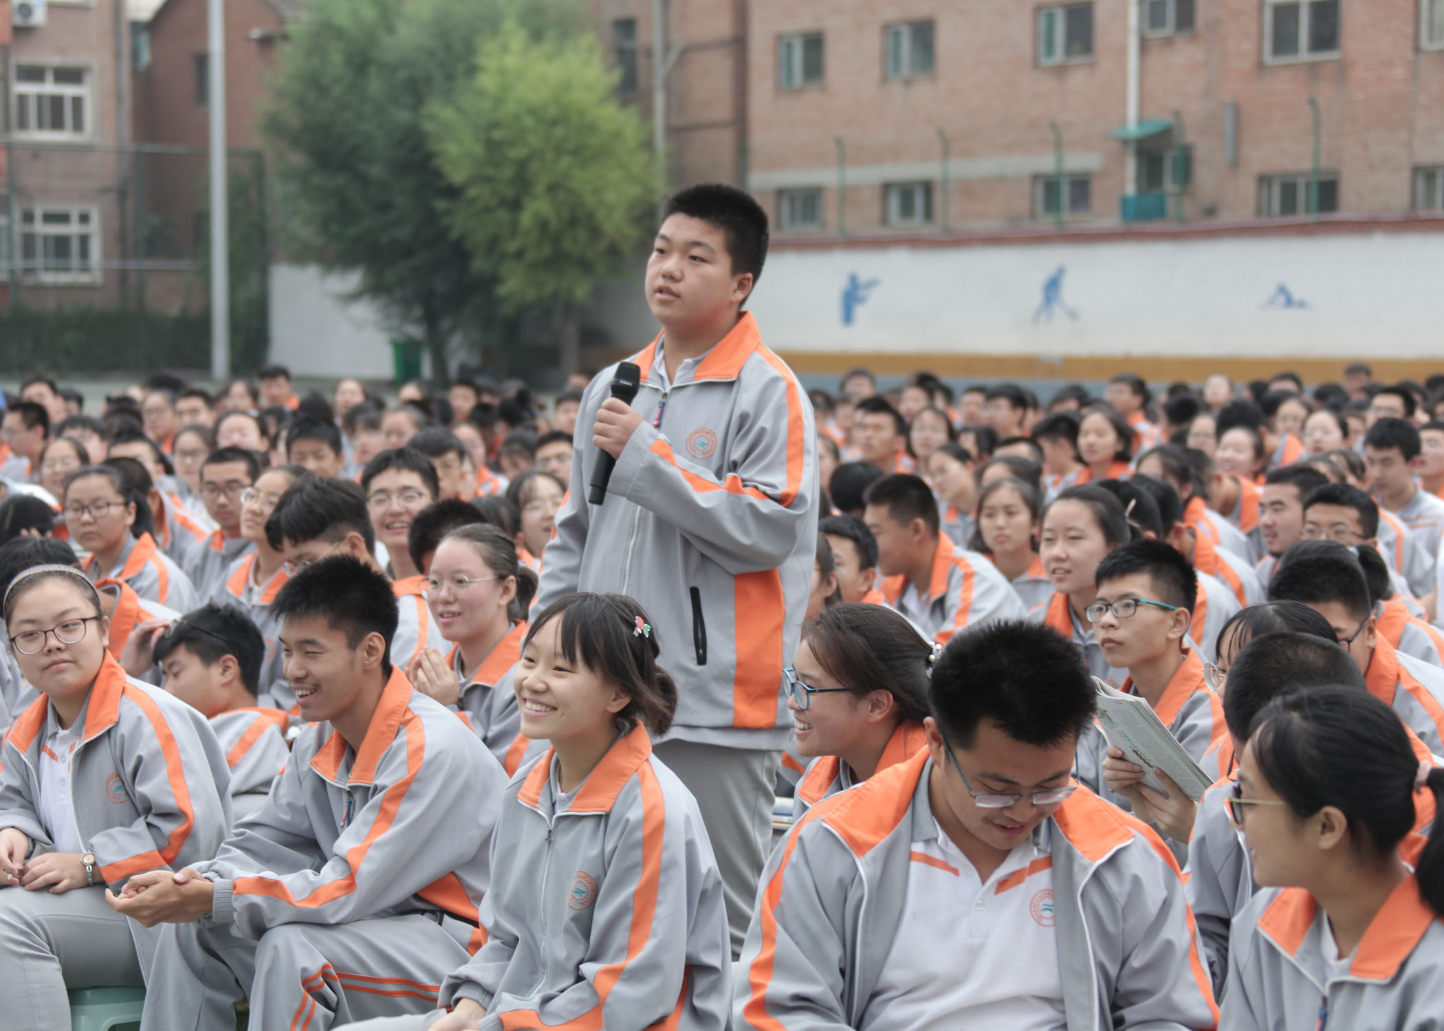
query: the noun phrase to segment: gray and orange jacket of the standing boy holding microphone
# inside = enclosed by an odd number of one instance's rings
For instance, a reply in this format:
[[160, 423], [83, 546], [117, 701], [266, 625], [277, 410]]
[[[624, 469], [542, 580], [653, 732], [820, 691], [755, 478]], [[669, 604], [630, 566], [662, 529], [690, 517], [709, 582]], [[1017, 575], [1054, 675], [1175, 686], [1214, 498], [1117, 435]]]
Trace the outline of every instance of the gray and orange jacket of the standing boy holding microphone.
[[576, 419], [570, 491], [533, 612], [573, 591], [631, 595], [677, 683], [670, 735], [781, 749], [791, 734], [783, 667], [801, 638], [817, 553], [817, 433], [797, 377], [744, 313], [692, 374], [663, 384], [658, 336], [631, 361], [643, 422], [586, 503], [596, 412], [615, 365]]

